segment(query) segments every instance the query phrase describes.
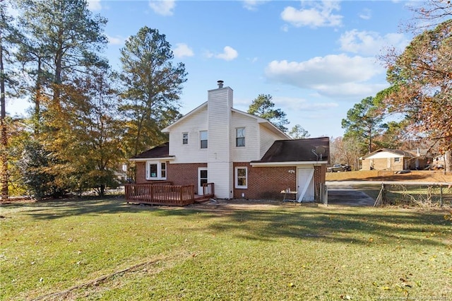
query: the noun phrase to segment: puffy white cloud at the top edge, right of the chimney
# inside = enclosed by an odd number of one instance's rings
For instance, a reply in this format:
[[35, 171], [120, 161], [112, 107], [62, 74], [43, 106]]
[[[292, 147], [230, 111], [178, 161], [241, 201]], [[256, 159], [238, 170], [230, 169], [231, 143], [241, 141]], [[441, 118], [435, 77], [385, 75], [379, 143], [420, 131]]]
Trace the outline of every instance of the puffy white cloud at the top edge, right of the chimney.
[[294, 8], [287, 6], [281, 13], [281, 18], [295, 27], [309, 26], [312, 28], [326, 26], [340, 26], [343, 16], [336, 15], [333, 11], [339, 11], [340, 5], [335, 1], [308, 1], [311, 8]]

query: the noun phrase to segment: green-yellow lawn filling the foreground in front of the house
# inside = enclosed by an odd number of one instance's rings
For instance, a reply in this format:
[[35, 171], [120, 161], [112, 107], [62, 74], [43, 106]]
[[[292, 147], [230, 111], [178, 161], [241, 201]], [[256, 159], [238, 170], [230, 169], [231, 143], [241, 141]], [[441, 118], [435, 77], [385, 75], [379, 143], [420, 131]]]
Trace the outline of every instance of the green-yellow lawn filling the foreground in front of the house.
[[[276, 202], [206, 207], [133, 206], [120, 199], [1, 206], [0, 297], [450, 300], [452, 296], [449, 211]], [[106, 275], [110, 276], [100, 278]], [[49, 295], [76, 285], [81, 286]]]

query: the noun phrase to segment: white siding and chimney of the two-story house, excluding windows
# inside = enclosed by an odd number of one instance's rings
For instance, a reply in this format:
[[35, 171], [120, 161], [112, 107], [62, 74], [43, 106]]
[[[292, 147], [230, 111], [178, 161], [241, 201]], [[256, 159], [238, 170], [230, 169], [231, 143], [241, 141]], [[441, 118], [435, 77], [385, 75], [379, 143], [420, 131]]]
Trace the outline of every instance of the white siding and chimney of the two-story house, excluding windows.
[[[232, 105], [231, 88], [209, 90], [207, 103], [166, 130], [169, 132], [169, 155], [174, 158], [171, 164], [207, 163], [209, 182], [215, 183], [215, 194], [220, 199], [233, 196], [234, 162], [260, 160], [273, 141], [287, 138], [275, 129], [266, 128], [270, 125], [259, 124], [262, 119], [237, 112]], [[237, 147], [239, 128], [245, 129], [245, 143]], [[207, 148], [201, 148], [201, 131], [208, 131]], [[184, 144], [185, 134], [188, 134], [187, 144]], [[240, 181], [239, 186], [243, 187], [246, 178]]]

